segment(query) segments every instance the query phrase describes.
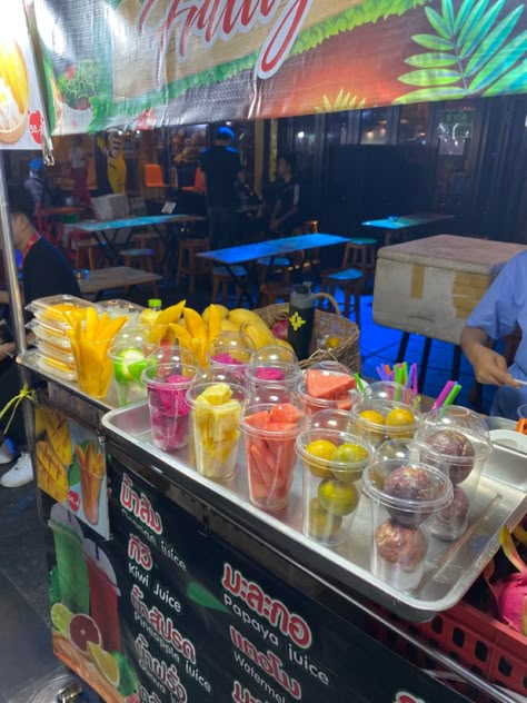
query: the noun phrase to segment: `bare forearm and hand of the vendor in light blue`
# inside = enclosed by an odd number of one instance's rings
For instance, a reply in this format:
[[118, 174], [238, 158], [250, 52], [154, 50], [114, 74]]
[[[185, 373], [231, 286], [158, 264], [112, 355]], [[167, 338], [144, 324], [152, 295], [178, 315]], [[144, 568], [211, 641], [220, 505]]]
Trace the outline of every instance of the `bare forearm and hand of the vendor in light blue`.
[[488, 347], [489, 336], [479, 327], [468, 325], [461, 333], [461, 347], [465, 356], [474, 367], [476, 379], [480, 384], [494, 386], [513, 386], [519, 388], [520, 384], [509, 374], [505, 357]]

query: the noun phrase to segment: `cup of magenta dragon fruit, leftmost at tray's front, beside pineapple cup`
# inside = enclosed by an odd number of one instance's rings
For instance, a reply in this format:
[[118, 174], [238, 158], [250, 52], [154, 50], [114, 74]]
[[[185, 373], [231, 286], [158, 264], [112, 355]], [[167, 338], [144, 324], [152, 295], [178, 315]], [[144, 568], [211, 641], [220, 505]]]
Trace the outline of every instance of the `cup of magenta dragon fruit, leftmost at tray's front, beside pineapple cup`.
[[142, 373], [152, 442], [163, 452], [176, 452], [188, 444], [190, 406], [186, 394], [197, 370], [188, 364], [158, 364]]

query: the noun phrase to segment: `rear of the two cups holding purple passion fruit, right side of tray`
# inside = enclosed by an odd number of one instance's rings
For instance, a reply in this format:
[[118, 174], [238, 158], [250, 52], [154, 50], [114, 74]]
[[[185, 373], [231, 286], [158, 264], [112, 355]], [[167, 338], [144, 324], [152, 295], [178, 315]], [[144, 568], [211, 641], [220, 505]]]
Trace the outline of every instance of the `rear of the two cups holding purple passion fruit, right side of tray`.
[[488, 428], [473, 410], [450, 405], [428, 413], [416, 439], [426, 445], [426, 461], [444, 469], [454, 484], [454, 502], [438, 513], [432, 534], [456, 539], [467, 528], [481, 469], [493, 450]]

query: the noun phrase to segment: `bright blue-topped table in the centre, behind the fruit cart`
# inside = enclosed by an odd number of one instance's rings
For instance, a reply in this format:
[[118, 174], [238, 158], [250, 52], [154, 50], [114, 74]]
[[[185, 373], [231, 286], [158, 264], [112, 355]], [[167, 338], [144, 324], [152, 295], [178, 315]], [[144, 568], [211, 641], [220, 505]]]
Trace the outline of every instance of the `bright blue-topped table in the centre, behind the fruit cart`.
[[337, 235], [299, 235], [298, 237], [268, 239], [256, 244], [246, 244], [240, 247], [201, 251], [197, 256], [218, 264], [219, 266], [225, 266], [235, 285], [240, 287], [242, 295], [247, 297], [249, 304], [252, 306], [253, 300], [248, 287], [249, 277], [247, 281], [245, 281], [235, 274], [232, 267], [239, 264], [247, 264], [247, 261], [256, 261], [262, 257], [270, 257], [269, 268], [272, 268], [274, 260], [277, 256], [289, 256], [298, 251], [306, 251], [309, 260], [309, 253], [314, 249], [330, 247], [336, 244], [347, 244], [347, 241], [348, 239], [346, 237], [339, 237]]

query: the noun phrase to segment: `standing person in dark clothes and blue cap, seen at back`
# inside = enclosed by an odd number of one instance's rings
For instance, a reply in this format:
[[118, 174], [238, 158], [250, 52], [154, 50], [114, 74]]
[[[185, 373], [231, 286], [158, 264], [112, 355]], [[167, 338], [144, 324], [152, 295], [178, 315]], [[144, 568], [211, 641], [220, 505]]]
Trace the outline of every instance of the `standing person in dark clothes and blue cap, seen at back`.
[[233, 140], [235, 133], [229, 127], [219, 127], [213, 146], [203, 151], [200, 160], [212, 249], [228, 247], [236, 238], [237, 182], [242, 181], [243, 167], [239, 151], [232, 147]]

